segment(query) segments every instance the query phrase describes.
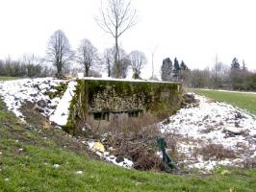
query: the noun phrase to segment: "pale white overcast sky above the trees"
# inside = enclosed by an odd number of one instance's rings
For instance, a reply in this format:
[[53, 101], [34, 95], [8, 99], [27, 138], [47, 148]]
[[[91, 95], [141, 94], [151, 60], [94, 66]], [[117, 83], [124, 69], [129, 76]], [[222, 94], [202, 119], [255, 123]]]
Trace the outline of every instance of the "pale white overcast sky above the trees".
[[[106, 1], [106, 0], [103, 0]], [[256, 2], [254, 0], [133, 0], [136, 27], [120, 38], [129, 53], [141, 50], [155, 67], [177, 57], [190, 68], [230, 64], [234, 57], [256, 69]], [[10, 54], [45, 56], [49, 36], [61, 29], [73, 49], [89, 38], [101, 52], [114, 39], [95, 23], [100, 0], [0, 0], [0, 59]], [[150, 76], [150, 65], [146, 73]]]

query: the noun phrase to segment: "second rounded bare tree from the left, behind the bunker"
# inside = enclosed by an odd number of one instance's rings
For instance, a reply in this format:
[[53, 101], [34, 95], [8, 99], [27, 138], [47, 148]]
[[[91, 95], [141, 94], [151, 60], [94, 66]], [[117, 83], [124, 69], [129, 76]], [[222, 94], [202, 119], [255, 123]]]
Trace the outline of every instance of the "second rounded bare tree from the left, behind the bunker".
[[85, 76], [89, 77], [89, 71], [92, 64], [95, 64], [98, 55], [97, 49], [92, 45], [89, 39], [84, 38], [78, 47], [78, 62], [83, 65], [85, 69]]

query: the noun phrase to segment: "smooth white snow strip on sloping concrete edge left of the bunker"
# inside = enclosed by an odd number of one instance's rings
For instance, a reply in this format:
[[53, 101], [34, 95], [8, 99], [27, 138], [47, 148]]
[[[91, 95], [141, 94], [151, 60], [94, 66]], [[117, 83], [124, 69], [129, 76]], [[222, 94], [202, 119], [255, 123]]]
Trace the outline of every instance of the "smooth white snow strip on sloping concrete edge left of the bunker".
[[64, 96], [60, 100], [58, 107], [54, 111], [53, 115], [50, 116], [50, 121], [57, 123], [60, 126], [64, 126], [67, 123], [69, 114], [69, 105], [74, 96], [74, 90], [76, 82], [69, 82]]

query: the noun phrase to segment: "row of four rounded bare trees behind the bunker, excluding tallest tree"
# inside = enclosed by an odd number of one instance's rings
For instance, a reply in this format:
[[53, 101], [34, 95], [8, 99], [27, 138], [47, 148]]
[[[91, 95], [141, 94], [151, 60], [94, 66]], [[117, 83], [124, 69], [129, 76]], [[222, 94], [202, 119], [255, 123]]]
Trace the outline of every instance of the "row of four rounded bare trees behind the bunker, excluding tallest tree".
[[77, 62], [84, 69], [85, 77], [91, 76], [92, 70], [104, 68], [108, 77], [126, 78], [128, 67], [133, 70], [133, 77], [139, 79], [141, 68], [146, 63], [145, 55], [138, 50], [126, 54], [125, 50], [118, 46], [118, 60], [116, 61], [116, 47], [106, 48], [103, 54], [99, 54], [97, 48], [90, 39], [81, 40], [78, 48], [74, 51], [67, 37], [61, 30], [56, 31], [49, 40], [47, 47], [47, 59], [56, 69], [56, 76], [63, 78], [64, 69], [72, 62]]

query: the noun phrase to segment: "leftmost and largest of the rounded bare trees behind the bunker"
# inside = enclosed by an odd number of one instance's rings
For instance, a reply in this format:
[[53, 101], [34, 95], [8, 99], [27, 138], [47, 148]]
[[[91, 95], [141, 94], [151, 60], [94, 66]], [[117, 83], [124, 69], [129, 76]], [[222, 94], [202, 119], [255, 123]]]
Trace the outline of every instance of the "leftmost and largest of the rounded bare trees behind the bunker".
[[56, 31], [48, 42], [47, 60], [52, 62], [57, 69], [57, 78], [63, 78], [64, 68], [73, 60], [74, 53], [69, 41], [61, 30]]

